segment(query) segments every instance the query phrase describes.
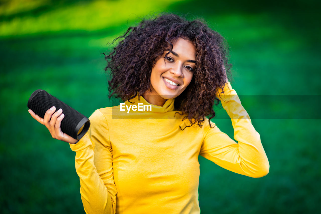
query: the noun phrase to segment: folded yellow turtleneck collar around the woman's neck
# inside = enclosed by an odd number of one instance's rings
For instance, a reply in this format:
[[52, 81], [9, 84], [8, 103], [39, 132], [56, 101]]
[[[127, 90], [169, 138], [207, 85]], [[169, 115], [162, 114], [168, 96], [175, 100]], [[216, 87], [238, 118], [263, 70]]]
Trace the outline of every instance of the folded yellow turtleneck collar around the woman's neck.
[[[129, 102], [130, 101], [130, 102]], [[145, 113], [164, 113], [168, 111], [173, 111], [174, 110], [174, 99], [169, 99], [167, 100], [163, 106], [158, 106], [158, 105], [153, 105], [151, 103], [148, 103], [143, 96], [135, 96], [131, 100], [125, 101], [126, 105], [138, 105], [138, 103], [142, 103], [143, 105], [151, 105], [152, 106], [152, 111], [140, 111], [140, 112], [145, 112]]]

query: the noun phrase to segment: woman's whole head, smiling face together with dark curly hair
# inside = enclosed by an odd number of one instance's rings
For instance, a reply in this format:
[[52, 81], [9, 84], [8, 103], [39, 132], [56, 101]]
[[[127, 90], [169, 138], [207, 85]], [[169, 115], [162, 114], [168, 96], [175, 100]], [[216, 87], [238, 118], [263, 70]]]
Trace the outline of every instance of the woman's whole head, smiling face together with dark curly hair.
[[[213, 103], [219, 103], [216, 93], [228, 82], [226, 73], [231, 67], [228, 49], [218, 32], [200, 20], [186, 21], [167, 14], [154, 20], [143, 20], [117, 39], [121, 38], [124, 40], [105, 57], [108, 61], [105, 70], [112, 76], [110, 96], [115, 94], [126, 101], [145, 94], [145, 99], [162, 105], [164, 99], [173, 98], [171, 94], [175, 94], [175, 110], [181, 111], [190, 125], [196, 123], [202, 127], [205, 116], [209, 119], [215, 116]], [[187, 64], [183, 65], [182, 60]], [[189, 84], [186, 84], [189, 76], [186, 70], [193, 70], [193, 74], [189, 74], [192, 76]], [[160, 72], [164, 74], [156, 74]], [[177, 72], [182, 74], [174, 75]], [[178, 87], [166, 84], [160, 77], [167, 78], [169, 83], [179, 80], [181, 84], [176, 82]], [[152, 81], [160, 81], [168, 90]], [[155, 92], [160, 96], [152, 98], [151, 95], [157, 95]]]

